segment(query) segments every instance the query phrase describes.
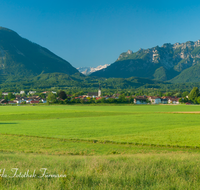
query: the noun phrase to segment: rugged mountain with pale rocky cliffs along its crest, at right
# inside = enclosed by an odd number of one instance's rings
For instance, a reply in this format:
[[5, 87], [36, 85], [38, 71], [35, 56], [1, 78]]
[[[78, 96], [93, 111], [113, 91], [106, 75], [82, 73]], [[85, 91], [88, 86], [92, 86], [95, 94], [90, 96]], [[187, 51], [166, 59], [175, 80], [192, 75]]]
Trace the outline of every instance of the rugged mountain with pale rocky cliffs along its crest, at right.
[[137, 52], [128, 50], [106, 69], [94, 72], [98, 77], [145, 77], [171, 82], [200, 82], [200, 40], [164, 44]]

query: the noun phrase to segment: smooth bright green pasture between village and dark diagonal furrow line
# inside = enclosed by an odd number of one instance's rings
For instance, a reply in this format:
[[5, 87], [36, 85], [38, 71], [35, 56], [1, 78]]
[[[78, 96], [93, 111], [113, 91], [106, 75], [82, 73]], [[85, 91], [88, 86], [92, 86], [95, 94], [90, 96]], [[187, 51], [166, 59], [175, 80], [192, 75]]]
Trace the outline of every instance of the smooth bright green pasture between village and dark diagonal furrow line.
[[2, 106], [0, 134], [200, 146], [199, 112], [200, 106], [188, 105]]

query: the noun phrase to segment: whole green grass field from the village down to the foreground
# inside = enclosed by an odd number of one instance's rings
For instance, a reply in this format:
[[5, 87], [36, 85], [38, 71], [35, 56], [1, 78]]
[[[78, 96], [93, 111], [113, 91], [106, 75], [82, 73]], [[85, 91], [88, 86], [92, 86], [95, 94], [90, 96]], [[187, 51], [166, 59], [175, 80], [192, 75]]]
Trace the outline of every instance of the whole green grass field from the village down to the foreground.
[[0, 178], [0, 186], [196, 189], [199, 137], [195, 105], [1, 106], [0, 169], [68, 177]]

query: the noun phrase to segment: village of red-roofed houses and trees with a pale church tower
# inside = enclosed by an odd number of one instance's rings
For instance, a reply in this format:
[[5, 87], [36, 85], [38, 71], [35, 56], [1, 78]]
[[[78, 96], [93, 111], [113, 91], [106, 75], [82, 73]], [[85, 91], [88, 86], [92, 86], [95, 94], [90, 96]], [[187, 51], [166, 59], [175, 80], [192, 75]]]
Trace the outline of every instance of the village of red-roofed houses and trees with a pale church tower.
[[[64, 94], [65, 92], [62, 91]], [[132, 103], [132, 104], [179, 104], [184, 98], [171, 96], [124, 96], [122, 94], [101, 95], [101, 88], [98, 92], [88, 92], [86, 95], [73, 97], [72, 95], [60, 96], [54, 91], [41, 92], [36, 91], [2, 92], [2, 105], [20, 105], [20, 104], [45, 104], [45, 103]], [[188, 98], [188, 97], [186, 97]]]

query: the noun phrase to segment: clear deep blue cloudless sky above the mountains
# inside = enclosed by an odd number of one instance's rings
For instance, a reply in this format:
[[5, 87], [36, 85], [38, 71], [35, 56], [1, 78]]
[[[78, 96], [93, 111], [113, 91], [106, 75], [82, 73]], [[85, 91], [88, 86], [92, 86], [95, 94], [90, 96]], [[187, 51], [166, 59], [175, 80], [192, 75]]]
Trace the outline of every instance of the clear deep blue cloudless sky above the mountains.
[[200, 1], [0, 0], [0, 26], [74, 67], [111, 64], [133, 52], [200, 39]]

